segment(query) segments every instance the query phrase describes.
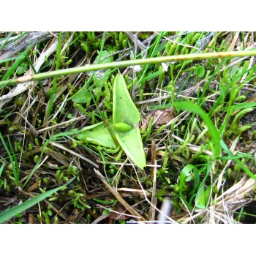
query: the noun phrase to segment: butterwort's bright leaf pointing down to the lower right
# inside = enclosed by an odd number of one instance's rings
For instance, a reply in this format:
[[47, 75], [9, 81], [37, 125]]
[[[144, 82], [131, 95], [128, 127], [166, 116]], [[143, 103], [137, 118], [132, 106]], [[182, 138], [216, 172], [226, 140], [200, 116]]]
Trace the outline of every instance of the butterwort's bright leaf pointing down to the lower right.
[[135, 127], [129, 132], [116, 133], [116, 140], [127, 154], [127, 157], [140, 169], [146, 167], [146, 157], [141, 140], [140, 129]]

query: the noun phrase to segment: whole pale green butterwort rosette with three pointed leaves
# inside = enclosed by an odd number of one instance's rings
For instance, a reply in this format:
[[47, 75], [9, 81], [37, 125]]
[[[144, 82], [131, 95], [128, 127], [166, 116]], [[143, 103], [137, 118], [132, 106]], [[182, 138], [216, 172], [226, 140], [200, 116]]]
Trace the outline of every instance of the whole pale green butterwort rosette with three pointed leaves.
[[113, 85], [112, 119], [84, 127], [77, 138], [106, 148], [116, 148], [119, 145], [127, 157], [143, 169], [146, 167], [146, 156], [139, 123], [140, 113], [129, 95], [123, 76], [118, 73]]

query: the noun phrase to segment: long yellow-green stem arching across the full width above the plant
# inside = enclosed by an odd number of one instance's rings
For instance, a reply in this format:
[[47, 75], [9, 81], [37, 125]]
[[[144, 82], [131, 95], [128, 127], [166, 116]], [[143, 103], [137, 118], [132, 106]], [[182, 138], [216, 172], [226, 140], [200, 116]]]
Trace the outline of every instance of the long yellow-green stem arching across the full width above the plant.
[[32, 80], [40, 80], [45, 78], [54, 78], [60, 75], [72, 75], [82, 72], [95, 71], [99, 69], [113, 69], [121, 67], [129, 67], [135, 65], [146, 65], [146, 64], [156, 64], [162, 62], [172, 62], [172, 61], [187, 61], [187, 60], [203, 60], [203, 59], [217, 59], [217, 58], [235, 58], [244, 56], [256, 56], [256, 50], [241, 50], [241, 51], [230, 51], [230, 52], [219, 52], [219, 53], [195, 53], [195, 54], [184, 54], [176, 56], [163, 56], [157, 58], [148, 59], [134, 59], [129, 61], [116, 61], [110, 63], [102, 64], [92, 64], [83, 67], [72, 67], [69, 69], [60, 69], [51, 72], [44, 72], [40, 74], [23, 76], [20, 78], [13, 78], [10, 80], [0, 81], [0, 86], [24, 83]]

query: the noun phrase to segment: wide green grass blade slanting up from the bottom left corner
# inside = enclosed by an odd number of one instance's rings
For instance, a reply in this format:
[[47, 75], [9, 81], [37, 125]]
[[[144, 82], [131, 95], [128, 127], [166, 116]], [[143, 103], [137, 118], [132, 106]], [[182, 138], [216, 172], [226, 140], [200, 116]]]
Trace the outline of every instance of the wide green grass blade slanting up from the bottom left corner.
[[44, 192], [40, 195], [37, 195], [36, 197], [33, 197], [33, 198], [27, 200], [24, 203], [21, 203], [18, 206], [12, 207], [12, 208], [8, 209], [7, 211], [2, 212], [0, 214], [0, 223], [7, 221], [8, 219], [14, 217], [16, 214], [19, 214], [22, 211], [26, 211], [26, 209], [29, 209], [32, 206], [34, 206], [35, 204], [41, 202], [42, 200], [45, 200], [46, 197], [49, 197], [53, 193], [57, 192], [59, 189], [62, 189], [63, 187], [69, 185], [74, 180], [75, 180], [75, 177], [72, 178], [69, 182], [67, 182], [67, 184], [64, 184], [61, 187], [57, 187], [56, 189], [51, 189], [47, 192]]

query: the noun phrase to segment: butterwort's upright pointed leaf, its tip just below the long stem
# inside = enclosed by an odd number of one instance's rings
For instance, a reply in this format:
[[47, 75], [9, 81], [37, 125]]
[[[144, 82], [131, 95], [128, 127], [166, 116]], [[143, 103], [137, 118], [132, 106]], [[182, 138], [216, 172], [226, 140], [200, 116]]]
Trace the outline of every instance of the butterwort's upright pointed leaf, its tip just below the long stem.
[[113, 124], [125, 123], [130, 127], [140, 122], [140, 113], [127, 90], [121, 74], [116, 75], [113, 85]]

